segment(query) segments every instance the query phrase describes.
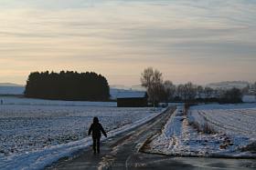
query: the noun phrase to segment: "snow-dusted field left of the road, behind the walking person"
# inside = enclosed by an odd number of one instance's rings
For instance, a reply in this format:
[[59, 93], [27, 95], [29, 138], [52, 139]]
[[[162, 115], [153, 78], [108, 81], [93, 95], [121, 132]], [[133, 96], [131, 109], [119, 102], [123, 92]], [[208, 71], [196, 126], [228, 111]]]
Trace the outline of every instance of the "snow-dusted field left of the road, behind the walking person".
[[118, 108], [113, 106], [116, 104], [104, 103], [77, 106], [80, 102], [68, 105], [52, 101], [53, 105], [48, 103], [50, 101], [34, 99], [10, 98], [10, 101], [15, 103], [6, 105], [5, 98], [4, 105], [0, 105], [0, 169], [43, 168], [91, 145], [87, 131], [93, 116], [99, 117], [112, 136], [162, 112], [161, 109]]

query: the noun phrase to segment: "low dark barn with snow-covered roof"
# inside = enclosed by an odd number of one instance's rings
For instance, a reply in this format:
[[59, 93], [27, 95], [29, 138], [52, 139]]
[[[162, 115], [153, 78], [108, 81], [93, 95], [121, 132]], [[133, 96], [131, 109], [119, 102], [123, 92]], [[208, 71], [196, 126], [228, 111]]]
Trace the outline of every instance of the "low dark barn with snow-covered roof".
[[147, 106], [146, 92], [123, 92], [117, 95], [118, 107], [145, 107]]

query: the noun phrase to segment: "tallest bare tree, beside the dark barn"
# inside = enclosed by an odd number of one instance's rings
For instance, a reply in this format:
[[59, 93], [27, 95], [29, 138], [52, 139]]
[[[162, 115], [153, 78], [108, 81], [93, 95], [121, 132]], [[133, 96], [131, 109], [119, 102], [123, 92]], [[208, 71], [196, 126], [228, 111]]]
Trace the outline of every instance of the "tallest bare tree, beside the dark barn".
[[141, 83], [147, 90], [149, 100], [153, 105], [158, 105], [163, 90], [163, 75], [157, 69], [148, 67], [141, 75]]

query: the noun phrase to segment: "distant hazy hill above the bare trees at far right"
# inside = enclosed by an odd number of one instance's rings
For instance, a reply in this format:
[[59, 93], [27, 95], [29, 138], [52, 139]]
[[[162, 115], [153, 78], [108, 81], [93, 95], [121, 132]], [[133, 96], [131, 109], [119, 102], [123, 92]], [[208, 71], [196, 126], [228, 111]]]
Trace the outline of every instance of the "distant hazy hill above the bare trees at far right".
[[221, 88], [221, 89], [229, 89], [229, 88], [244, 88], [248, 85], [251, 85], [249, 82], [246, 81], [227, 81], [227, 82], [218, 82], [218, 83], [211, 83], [206, 86], [211, 87], [211, 88]]

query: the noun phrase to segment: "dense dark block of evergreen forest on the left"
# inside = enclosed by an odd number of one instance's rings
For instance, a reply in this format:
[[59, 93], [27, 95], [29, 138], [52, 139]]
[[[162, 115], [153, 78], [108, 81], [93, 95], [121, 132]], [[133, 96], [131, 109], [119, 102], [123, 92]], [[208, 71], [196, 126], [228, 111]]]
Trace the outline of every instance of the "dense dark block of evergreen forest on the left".
[[93, 72], [34, 72], [28, 76], [25, 96], [42, 99], [106, 101], [107, 79]]

